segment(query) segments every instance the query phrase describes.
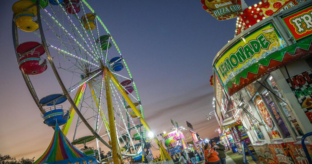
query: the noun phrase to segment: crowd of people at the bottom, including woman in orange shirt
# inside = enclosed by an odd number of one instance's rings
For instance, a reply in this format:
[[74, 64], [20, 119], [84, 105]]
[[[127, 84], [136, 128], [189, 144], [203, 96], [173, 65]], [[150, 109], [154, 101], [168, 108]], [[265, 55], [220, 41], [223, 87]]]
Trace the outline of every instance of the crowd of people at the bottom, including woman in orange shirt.
[[[215, 141], [211, 142], [211, 145], [209, 143], [206, 143], [203, 147], [205, 157], [205, 164], [226, 164], [226, 155], [225, 155], [225, 146], [216, 143]], [[199, 156], [199, 154], [198, 154]], [[196, 156], [193, 151], [188, 152], [188, 158], [190, 161], [187, 160], [187, 158], [184, 156], [184, 154], [178, 153], [177, 155], [173, 155], [173, 162], [175, 164], [197, 164], [196, 162]]]

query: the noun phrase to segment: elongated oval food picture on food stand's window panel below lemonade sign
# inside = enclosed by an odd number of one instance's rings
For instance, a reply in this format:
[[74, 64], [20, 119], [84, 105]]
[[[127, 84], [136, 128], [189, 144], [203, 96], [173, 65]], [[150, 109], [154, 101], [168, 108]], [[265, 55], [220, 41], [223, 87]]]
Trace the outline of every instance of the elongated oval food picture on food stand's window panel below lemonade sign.
[[259, 113], [260, 113], [262, 119], [264, 120], [264, 122], [266, 123], [266, 125], [270, 129], [273, 128], [273, 122], [272, 122], [271, 116], [270, 116], [268, 110], [266, 109], [265, 104], [263, 103], [263, 101], [259, 95], [255, 96], [254, 103], [257, 106]]

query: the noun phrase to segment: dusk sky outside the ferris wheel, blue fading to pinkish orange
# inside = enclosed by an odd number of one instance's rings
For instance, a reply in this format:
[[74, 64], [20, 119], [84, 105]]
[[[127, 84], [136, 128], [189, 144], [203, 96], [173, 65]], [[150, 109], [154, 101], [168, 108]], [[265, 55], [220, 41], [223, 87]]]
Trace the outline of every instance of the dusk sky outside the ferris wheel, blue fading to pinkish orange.
[[[18, 68], [11, 29], [14, 2], [2, 2], [0, 19], [0, 154], [37, 159], [53, 129], [43, 124]], [[173, 119], [184, 127], [190, 122], [202, 138], [217, 137], [217, 121], [206, 117], [213, 111], [212, 60], [234, 37], [236, 19], [218, 21], [202, 9], [200, 0], [88, 2], [127, 61], [153, 132], [169, 132]], [[25, 33], [19, 32], [20, 37], [32, 40]], [[54, 75], [53, 80], [31, 78], [41, 89], [38, 96], [53, 94], [52, 88], [61, 92]]]

